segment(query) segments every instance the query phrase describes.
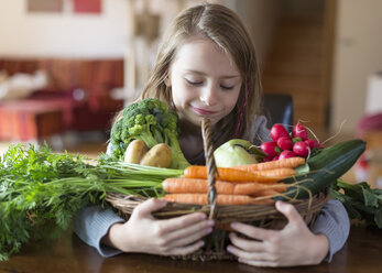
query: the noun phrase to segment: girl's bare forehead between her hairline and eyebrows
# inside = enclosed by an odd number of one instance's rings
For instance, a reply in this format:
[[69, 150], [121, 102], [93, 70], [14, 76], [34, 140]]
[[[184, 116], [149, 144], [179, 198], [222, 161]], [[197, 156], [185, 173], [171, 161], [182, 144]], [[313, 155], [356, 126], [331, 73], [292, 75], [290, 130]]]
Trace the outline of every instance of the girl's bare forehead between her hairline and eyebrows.
[[184, 69], [214, 70], [215, 74], [239, 74], [231, 56], [211, 40], [200, 35], [187, 39], [179, 45], [173, 65]]

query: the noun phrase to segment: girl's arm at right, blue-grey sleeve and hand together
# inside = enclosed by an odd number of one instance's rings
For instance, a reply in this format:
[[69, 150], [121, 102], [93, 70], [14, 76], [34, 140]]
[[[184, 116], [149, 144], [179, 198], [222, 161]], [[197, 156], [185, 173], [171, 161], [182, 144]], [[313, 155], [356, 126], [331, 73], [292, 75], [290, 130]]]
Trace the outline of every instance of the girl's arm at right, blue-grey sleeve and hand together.
[[349, 219], [342, 205], [329, 200], [320, 211], [312, 230], [294, 206], [277, 201], [276, 208], [288, 220], [282, 230], [271, 230], [243, 223], [232, 228], [250, 239], [230, 234], [228, 251], [239, 262], [255, 266], [293, 266], [318, 264], [331, 260], [342, 248], [349, 234]]

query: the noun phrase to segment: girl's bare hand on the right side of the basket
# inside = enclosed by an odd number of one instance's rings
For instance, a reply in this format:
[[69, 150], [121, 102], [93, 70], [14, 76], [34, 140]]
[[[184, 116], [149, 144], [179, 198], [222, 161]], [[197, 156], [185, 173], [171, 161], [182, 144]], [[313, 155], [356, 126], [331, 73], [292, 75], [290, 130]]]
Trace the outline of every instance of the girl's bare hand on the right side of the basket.
[[320, 263], [329, 250], [324, 234], [314, 234], [293, 205], [277, 201], [276, 209], [288, 220], [282, 230], [268, 230], [232, 222], [236, 231], [253, 239], [230, 233], [233, 245], [227, 250], [239, 262], [254, 266], [292, 266]]

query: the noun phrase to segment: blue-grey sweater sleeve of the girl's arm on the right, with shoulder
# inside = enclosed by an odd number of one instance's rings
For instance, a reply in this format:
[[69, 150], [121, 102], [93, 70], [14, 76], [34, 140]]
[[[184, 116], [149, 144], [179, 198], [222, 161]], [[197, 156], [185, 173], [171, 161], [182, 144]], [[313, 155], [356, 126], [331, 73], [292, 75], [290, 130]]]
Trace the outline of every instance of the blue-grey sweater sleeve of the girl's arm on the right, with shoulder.
[[[253, 143], [271, 141], [270, 130], [266, 128], [266, 119], [263, 116], [257, 117], [252, 127]], [[349, 236], [350, 221], [343, 205], [330, 199], [318, 214], [316, 221], [310, 227], [313, 233], [325, 234], [329, 240], [329, 252], [325, 261], [330, 262], [332, 255], [339, 251]]]

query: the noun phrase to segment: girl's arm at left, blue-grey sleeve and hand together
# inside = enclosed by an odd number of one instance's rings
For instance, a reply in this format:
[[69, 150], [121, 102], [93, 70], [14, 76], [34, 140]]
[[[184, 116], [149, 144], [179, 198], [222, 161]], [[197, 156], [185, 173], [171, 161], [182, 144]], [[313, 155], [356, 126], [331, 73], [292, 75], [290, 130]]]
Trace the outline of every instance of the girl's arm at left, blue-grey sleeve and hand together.
[[183, 255], [200, 249], [200, 239], [212, 231], [214, 221], [201, 212], [154, 219], [151, 212], [165, 205], [165, 200], [149, 199], [133, 210], [129, 221], [111, 209], [86, 207], [74, 219], [74, 231], [106, 258], [122, 252]]

